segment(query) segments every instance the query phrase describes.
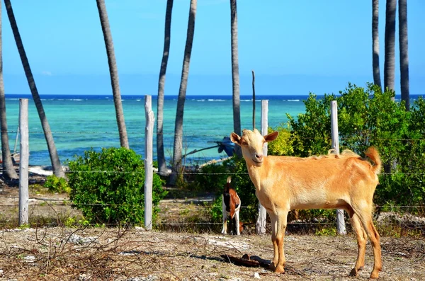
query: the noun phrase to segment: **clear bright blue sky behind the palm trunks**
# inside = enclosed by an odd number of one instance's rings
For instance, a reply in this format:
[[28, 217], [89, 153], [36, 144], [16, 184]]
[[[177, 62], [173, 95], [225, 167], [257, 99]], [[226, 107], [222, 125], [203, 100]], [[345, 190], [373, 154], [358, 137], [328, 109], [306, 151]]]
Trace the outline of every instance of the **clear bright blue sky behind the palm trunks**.
[[[174, 0], [166, 95], [179, 93], [189, 0]], [[96, 1], [12, 1], [40, 94], [108, 94], [108, 61]], [[372, 81], [371, 1], [239, 0], [241, 94], [337, 93]], [[412, 94], [425, 88], [425, 1], [408, 3]], [[121, 93], [157, 94], [166, 0], [106, 0]], [[198, 0], [188, 95], [231, 95], [229, 0]], [[6, 93], [30, 93], [4, 4]], [[398, 24], [398, 23], [397, 23]], [[398, 28], [397, 28], [398, 32]], [[383, 76], [385, 1], [380, 1]], [[396, 92], [399, 91], [398, 34]]]

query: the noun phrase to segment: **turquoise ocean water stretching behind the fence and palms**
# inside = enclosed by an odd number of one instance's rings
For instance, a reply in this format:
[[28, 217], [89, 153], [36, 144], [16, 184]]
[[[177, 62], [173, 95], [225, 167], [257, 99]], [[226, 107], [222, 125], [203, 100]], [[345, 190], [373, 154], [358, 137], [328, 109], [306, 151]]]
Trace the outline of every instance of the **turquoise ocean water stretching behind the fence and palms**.
[[[118, 126], [115, 119], [113, 97], [44, 95], [40, 96], [52, 130], [62, 165], [84, 151], [93, 148], [119, 147]], [[28, 122], [30, 139], [30, 165], [51, 166], [40, 119], [30, 95], [6, 94], [8, 137], [11, 151], [16, 144], [19, 117], [19, 99], [29, 99]], [[257, 96], [255, 107], [256, 128], [261, 127], [261, 101], [268, 100], [268, 126], [276, 127], [288, 122], [287, 114], [296, 117], [305, 112], [303, 101], [307, 96]], [[145, 155], [145, 96], [122, 96], [125, 124], [130, 148]], [[176, 118], [176, 96], [164, 98], [164, 149], [167, 161], [171, 159]], [[251, 129], [253, 100], [240, 97], [242, 129]], [[155, 114], [154, 159], [156, 152], [157, 96], [152, 96]], [[186, 96], [183, 115], [183, 154], [195, 149], [212, 147], [233, 132], [232, 96]], [[186, 157], [186, 164], [202, 164], [211, 159], [227, 157], [217, 148], [206, 149]]]

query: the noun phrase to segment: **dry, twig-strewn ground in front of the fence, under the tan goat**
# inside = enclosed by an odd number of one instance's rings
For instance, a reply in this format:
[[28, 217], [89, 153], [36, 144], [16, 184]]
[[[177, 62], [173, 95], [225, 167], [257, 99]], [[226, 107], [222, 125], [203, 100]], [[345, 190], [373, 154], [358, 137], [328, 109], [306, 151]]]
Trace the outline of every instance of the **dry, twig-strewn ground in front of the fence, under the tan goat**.
[[[222, 255], [270, 259], [270, 236], [142, 229], [15, 229], [0, 233], [2, 280], [352, 280], [353, 236], [286, 236], [285, 275], [227, 263]], [[373, 265], [368, 245], [365, 270]], [[383, 280], [425, 280], [423, 239], [382, 238]], [[150, 277], [149, 277], [150, 276]], [[136, 279], [139, 278], [139, 279]]]

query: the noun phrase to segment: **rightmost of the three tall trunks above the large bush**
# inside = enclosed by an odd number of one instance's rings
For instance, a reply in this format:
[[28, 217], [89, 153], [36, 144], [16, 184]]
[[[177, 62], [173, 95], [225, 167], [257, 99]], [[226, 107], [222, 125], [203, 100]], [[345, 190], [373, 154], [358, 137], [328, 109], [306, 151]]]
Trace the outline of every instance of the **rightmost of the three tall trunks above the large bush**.
[[410, 110], [409, 93], [409, 44], [407, 40], [407, 0], [399, 0], [399, 50], [400, 50], [400, 84], [402, 101], [406, 110]]

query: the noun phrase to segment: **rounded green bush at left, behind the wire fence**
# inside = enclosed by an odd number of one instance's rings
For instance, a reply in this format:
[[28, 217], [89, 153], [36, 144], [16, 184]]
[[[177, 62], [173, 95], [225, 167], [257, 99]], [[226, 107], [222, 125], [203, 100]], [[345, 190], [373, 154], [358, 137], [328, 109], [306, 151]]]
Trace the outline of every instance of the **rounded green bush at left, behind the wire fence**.
[[[142, 157], [125, 148], [84, 152], [69, 162], [70, 198], [90, 223], [134, 223], [145, 220], [145, 166]], [[166, 195], [154, 173], [152, 198], [157, 205]]]

